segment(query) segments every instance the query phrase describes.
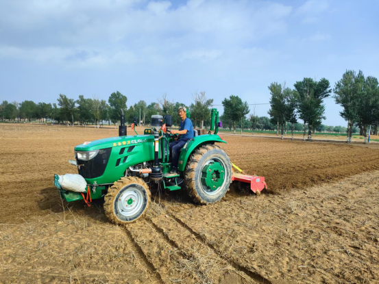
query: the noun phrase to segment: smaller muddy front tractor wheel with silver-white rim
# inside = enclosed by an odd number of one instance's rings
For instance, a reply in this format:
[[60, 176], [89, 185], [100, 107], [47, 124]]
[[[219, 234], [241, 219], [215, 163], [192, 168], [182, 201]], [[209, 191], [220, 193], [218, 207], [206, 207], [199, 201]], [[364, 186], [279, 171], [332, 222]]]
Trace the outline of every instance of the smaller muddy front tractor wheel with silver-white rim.
[[145, 181], [138, 177], [123, 177], [104, 196], [104, 211], [110, 222], [127, 224], [143, 216], [151, 201]]

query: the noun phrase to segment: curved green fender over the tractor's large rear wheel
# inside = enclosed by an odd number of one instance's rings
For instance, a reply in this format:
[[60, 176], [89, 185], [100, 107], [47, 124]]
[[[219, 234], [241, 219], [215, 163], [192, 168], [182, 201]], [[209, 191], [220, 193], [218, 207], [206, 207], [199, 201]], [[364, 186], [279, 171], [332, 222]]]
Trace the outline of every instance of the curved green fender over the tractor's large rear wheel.
[[180, 150], [178, 170], [183, 171], [186, 168], [188, 157], [195, 151], [195, 149], [205, 144], [215, 144], [215, 142], [226, 143], [217, 134], [204, 134], [196, 136], [186, 142], [182, 150]]

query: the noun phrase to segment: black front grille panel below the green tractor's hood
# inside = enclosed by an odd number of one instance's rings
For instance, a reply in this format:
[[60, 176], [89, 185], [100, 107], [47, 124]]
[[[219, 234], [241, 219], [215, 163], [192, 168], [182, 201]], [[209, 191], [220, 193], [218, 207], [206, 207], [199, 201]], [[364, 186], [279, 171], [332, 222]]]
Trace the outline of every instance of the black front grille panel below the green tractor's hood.
[[79, 175], [84, 177], [84, 179], [94, 179], [95, 177], [101, 177], [101, 175], [104, 173], [104, 170], [106, 170], [111, 151], [112, 148], [101, 149], [99, 153], [97, 153], [97, 155], [89, 161], [82, 161], [80, 159], [77, 159], [77, 164], [83, 165], [80, 166], [80, 169], [77, 170], [79, 172]]

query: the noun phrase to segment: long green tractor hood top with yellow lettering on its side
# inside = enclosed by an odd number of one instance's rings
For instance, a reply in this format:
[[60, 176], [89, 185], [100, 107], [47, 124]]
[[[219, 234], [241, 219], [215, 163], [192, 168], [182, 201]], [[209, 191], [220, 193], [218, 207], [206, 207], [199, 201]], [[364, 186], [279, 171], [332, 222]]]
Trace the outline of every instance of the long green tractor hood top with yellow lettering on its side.
[[153, 135], [129, 135], [104, 138], [77, 145], [75, 151], [92, 151], [119, 146], [131, 146], [146, 142], [154, 142]]

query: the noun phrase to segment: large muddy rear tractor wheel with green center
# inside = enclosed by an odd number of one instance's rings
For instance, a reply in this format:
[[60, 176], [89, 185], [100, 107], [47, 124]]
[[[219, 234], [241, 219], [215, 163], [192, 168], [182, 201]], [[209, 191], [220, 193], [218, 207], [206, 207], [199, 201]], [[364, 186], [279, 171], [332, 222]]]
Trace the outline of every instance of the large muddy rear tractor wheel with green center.
[[188, 158], [184, 182], [195, 203], [220, 201], [232, 183], [232, 164], [228, 154], [215, 144], [196, 149]]

